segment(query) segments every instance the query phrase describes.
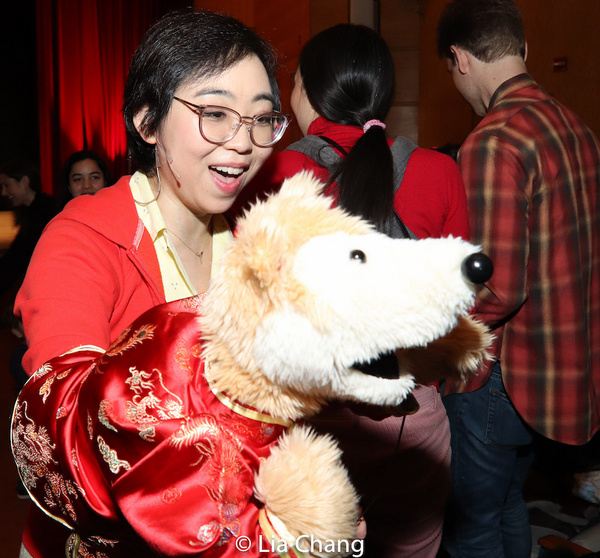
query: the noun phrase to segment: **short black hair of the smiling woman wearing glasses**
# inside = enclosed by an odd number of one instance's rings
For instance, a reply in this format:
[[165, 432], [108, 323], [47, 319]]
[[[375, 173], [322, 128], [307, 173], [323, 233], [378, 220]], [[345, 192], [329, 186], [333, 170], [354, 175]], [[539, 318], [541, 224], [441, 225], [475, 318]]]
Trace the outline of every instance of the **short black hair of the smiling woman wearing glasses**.
[[275, 53], [238, 20], [205, 11], [172, 12], [150, 28], [131, 61], [123, 102], [129, 153], [142, 172], [154, 174], [155, 148], [138, 133], [135, 115], [147, 108], [142, 128], [155, 133], [178, 87], [198, 77], [218, 76], [252, 55], [265, 67], [274, 109], [280, 110]]

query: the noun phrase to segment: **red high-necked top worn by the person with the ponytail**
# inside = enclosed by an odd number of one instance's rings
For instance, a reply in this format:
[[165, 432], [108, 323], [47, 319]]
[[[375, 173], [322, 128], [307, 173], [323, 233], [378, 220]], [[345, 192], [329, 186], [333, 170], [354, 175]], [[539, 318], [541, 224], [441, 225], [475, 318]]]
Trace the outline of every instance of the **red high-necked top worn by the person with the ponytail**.
[[[348, 151], [363, 131], [362, 128], [334, 124], [321, 117], [311, 123], [308, 134], [326, 136]], [[392, 143], [393, 140], [389, 140], [389, 144]], [[236, 207], [247, 207], [257, 195], [277, 190], [286, 178], [304, 169], [312, 170], [323, 182], [329, 178], [324, 167], [303, 153], [284, 150], [272, 155], [242, 192]], [[333, 191], [330, 193], [334, 194]], [[453, 235], [469, 239], [465, 190], [458, 166], [447, 155], [417, 148], [408, 162], [394, 207], [418, 238]]]

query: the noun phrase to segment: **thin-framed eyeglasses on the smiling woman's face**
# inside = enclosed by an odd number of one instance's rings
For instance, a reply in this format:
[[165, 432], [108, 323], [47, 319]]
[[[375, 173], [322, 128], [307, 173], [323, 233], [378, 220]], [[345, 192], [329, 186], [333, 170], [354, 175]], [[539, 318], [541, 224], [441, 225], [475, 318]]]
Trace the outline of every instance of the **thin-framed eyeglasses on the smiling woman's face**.
[[173, 97], [195, 112], [199, 117], [200, 134], [217, 145], [233, 139], [245, 124], [250, 141], [257, 147], [269, 147], [277, 143], [288, 127], [291, 117], [281, 112], [265, 112], [256, 116], [242, 116], [239, 112], [218, 105], [194, 105], [179, 97]]

